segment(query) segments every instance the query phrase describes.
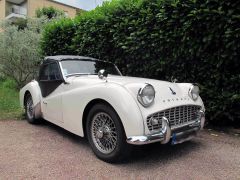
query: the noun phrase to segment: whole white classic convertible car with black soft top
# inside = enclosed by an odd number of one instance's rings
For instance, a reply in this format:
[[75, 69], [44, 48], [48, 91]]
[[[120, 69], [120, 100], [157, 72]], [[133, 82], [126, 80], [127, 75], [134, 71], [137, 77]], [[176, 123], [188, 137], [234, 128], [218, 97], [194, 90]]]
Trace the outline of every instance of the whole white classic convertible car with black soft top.
[[132, 145], [189, 140], [205, 122], [198, 86], [122, 76], [112, 63], [81, 56], [46, 57], [20, 102], [29, 123], [43, 118], [86, 136], [107, 162]]

